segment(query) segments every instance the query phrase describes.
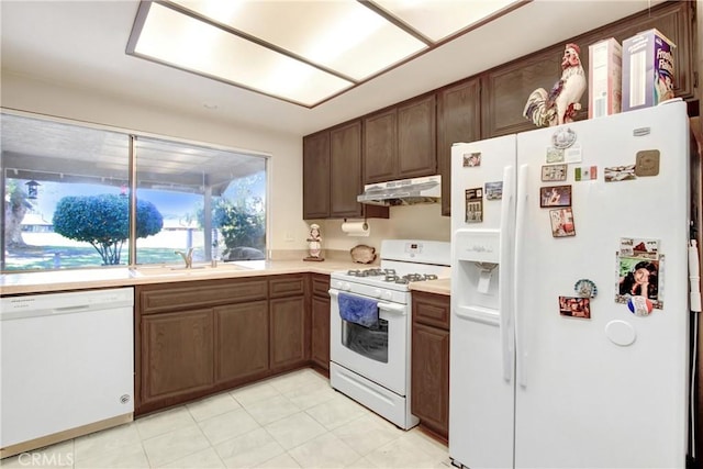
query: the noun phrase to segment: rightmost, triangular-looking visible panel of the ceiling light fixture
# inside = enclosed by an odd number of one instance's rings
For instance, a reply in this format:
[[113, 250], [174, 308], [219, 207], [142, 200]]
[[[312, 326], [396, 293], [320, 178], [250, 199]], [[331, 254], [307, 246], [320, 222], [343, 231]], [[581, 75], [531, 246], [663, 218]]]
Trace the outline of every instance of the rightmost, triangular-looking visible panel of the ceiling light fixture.
[[523, 0], [373, 0], [373, 3], [433, 42], [447, 38], [512, 4], [523, 2]]

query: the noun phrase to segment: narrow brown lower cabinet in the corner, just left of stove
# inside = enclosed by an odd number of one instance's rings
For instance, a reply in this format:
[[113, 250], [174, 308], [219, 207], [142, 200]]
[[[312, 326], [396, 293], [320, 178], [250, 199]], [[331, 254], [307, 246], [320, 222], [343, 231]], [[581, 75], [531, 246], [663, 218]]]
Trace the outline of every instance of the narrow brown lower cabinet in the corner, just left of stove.
[[312, 275], [310, 358], [325, 371], [330, 371], [330, 276]]

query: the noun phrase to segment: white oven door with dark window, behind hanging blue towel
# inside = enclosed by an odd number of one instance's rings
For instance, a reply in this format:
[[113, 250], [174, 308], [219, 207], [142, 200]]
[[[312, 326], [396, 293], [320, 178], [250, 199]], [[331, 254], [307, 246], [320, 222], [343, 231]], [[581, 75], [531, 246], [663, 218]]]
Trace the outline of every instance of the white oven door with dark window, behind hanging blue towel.
[[330, 359], [406, 395], [410, 305], [379, 301], [379, 327], [367, 328], [339, 316], [337, 294], [337, 290], [330, 290]]

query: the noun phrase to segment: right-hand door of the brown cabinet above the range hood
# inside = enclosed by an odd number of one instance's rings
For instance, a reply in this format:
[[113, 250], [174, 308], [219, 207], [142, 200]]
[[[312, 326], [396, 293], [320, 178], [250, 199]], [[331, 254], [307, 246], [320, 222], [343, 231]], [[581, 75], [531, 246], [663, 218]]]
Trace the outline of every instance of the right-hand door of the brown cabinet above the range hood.
[[397, 179], [437, 174], [435, 94], [398, 107]]

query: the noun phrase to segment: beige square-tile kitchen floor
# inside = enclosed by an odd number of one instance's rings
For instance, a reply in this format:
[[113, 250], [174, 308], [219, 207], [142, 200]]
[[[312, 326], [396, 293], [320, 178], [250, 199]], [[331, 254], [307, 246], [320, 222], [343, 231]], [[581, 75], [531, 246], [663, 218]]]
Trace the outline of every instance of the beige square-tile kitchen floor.
[[438, 468], [447, 447], [403, 432], [312, 369], [5, 458], [3, 468]]

